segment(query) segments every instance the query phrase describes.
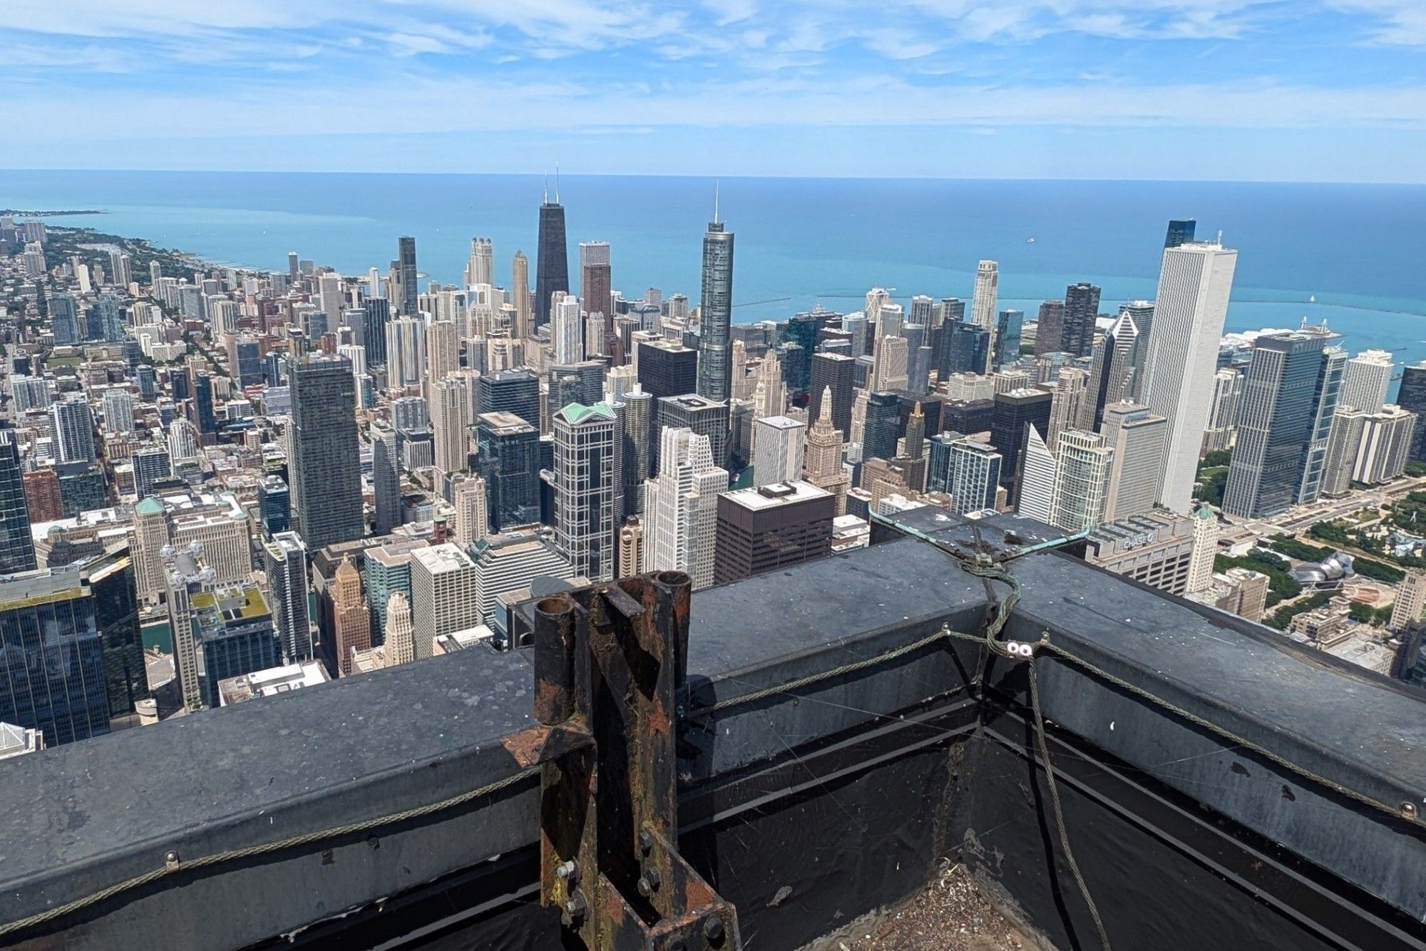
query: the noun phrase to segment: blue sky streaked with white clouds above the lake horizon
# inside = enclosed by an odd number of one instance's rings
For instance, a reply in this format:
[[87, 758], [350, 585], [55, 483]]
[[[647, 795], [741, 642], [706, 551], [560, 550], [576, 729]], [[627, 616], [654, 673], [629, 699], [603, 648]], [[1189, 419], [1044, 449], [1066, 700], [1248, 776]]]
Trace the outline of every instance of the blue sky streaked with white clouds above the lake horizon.
[[1426, 181], [1426, 0], [30, 0], [0, 164]]

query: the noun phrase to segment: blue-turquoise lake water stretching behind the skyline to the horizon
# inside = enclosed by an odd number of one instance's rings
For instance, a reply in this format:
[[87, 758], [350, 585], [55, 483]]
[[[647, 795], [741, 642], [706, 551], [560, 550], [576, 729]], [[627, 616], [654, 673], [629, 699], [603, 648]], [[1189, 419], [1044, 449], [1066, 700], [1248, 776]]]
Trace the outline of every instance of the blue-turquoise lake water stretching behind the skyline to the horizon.
[[[626, 297], [659, 287], [697, 301], [713, 180], [565, 177], [559, 187], [572, 269], [579, 241], [609, 241]], [[421, 271], [452, 284], [473, 235], [493, 240], [498, 281], [516, 250], [533, 279], [542, 190], [539, 175], [0, 171], [0, 205], [101, 208], [57, 222], [227, 264], [285, 269], [292, 250], [359, 274], [385, 269], [396, 237], [411, 234]], [[870, 287], [903, 301], [968, 298], [980, 258], [1000, 262], [1002, 307], [1032, 317], [1067, 284], [1092, 281], [1112, 311], [1154, 295], [1166, 221], [1194, 217], [1199, 237], [1222, 231], [1239, 251], [1228, 329], [1308, 317], [1352, 351], [1426, 359], [1422, 185], [727, 178], [722, 217], [737, 235], [739, 321], [817, 301], [856, 309]]]

